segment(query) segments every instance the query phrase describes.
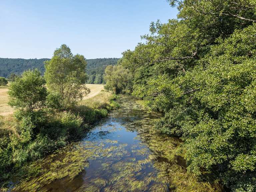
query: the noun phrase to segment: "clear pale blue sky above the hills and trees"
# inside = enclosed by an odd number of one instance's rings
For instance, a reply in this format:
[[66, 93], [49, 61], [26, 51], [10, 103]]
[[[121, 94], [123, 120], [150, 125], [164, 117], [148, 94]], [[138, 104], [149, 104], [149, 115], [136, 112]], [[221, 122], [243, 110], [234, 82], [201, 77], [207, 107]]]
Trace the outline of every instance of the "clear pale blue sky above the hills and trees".
[[0, 58], [51, 58], [61, 44], [87, 59], [120, 58], [152, 21], [177, 13], [166, 0], [0, 0]]

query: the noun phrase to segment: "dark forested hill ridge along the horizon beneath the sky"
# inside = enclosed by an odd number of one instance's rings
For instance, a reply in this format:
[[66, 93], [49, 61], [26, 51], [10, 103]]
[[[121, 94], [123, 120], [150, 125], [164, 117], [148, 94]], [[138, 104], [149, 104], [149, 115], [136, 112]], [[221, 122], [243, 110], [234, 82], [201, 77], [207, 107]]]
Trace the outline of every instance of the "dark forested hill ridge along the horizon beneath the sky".
[[[23, 71], [38, 68], [44, 73], [44, 61], [50, 59], [9, 59], [0, 58], [0, 77], [8, 77], [11, 73], [21, 75]], [[116, 65], [118, 58], [87, 59], [86, 72], [89, 75], [87, 83], [102, 84], [103, 74], [107, 65]]]

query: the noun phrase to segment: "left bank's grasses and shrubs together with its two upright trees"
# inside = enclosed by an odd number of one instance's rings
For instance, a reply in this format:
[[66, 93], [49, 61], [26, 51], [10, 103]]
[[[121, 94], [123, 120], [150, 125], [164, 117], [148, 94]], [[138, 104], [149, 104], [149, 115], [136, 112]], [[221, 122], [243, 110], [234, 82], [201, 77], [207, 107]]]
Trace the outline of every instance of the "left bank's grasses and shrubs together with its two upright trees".
[[16, 111], [0, 116], [1, 190], [10, 177], [23, 175], [28, 162], [81, 138], [90, 124], [119, 107], [110, 91], [82, 100], [90, 92], [83, 84], [86, 61], [66, 45], [45, 65], [44, 77], [28, 70], [9, 86], [9, 105]]

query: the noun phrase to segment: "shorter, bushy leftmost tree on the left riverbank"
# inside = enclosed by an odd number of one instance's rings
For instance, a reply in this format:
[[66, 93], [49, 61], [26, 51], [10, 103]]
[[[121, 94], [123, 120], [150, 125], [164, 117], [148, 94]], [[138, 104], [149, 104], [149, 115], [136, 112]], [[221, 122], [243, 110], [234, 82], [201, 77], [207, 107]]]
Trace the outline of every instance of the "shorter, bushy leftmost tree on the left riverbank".
[[45, 80], [38, 69], [25, 71], [21, 78], [16, 78], [10, 85], [9, 105], [29, 112], [41, 109], [47, 96], [44, 85]]

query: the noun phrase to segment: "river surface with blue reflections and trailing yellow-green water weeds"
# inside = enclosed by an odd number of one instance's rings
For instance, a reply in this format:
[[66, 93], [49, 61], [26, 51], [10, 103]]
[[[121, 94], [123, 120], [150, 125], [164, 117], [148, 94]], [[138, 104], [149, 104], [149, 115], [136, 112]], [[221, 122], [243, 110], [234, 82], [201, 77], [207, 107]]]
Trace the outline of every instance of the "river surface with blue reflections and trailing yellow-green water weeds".
[[[164, 145], [159, 142], [168, 140], [168, 147], [176, 147], [181, 141], [154, 131], [154, 120], [162, 114], [149, 113], [136, 99], [127, 96], [118, 102], [120, 109], [98, 122], [81, 141], [32, 163], [27, 169], [31, 177], [12, 191], [160, 192], [173, 189], [168, 176], [172, 163], [168, 156], [163, 157], [160, 148]], [[178, 157], [176, 163], [186, 169], [182, 157]]]

